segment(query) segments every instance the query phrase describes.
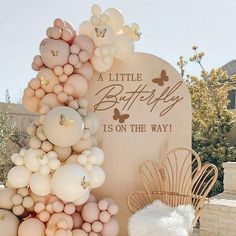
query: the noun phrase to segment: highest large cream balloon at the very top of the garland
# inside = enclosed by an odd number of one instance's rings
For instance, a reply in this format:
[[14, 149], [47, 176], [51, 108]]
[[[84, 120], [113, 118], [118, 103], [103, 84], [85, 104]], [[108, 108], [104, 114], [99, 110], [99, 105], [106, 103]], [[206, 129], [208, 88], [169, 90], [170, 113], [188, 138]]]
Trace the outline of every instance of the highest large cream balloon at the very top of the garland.
[[109, 15], [107, 24], [112, 27], [114, 33], [120, 31], [124, 24], [124, 17], [121, 11], [116, 8], [108, 8], [105, 12]]

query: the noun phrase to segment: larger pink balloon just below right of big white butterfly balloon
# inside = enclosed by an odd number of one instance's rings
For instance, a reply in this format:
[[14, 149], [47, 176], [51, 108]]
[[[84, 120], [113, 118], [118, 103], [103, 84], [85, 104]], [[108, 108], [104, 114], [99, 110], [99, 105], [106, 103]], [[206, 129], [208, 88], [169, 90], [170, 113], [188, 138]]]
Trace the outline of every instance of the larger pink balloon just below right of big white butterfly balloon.
[[89, 222], [93, 223], [98, 220], [100, 210], [98, 209], [97, 203], [90, 202], [84, 205], [82, 209], [82, 218]]

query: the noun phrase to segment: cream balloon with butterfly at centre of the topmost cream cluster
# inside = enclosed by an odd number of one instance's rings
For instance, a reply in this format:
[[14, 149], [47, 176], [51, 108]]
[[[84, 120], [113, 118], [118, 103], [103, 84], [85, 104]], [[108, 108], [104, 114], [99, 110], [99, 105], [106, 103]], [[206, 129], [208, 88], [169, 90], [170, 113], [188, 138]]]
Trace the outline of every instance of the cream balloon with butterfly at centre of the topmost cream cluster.
[[108, 25], [97, 25], [92, 39], [96, 47], [111, 45], [115, 40], [113, 29]]

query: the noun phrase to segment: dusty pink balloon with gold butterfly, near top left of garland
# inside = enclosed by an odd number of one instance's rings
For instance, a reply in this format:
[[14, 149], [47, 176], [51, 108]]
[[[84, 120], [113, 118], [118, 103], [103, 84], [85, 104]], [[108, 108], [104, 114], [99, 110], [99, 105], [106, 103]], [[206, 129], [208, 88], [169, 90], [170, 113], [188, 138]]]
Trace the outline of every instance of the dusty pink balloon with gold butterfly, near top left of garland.
[[60, 39], [44, 39], [40, 44], [40, 53], [43, 63], [53, 69], [57, 65], [64, 66], [68, 62], [70, 46]]

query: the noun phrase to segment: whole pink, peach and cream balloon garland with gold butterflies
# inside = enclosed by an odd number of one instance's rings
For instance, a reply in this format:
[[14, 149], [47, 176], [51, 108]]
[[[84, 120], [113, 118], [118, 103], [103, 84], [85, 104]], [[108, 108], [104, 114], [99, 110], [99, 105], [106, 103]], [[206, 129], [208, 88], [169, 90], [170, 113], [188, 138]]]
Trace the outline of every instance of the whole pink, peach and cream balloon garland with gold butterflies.
[[7, 236], [116, 236], [118, 206], [90, 194], [105, 181], [99, 121], [83, 97], [94, 71], [125, 60], [139, 40], [137, 24], [98, 5], [90, 20], [74, 26], [56, 19], [33, 59], [37, 71], [23, 105], [39, 117], [27, 128], [29, 149], [11, 156], [7, 188], [0, 190], [0, 228]]

